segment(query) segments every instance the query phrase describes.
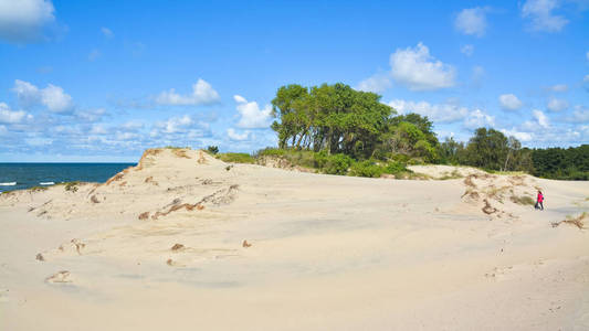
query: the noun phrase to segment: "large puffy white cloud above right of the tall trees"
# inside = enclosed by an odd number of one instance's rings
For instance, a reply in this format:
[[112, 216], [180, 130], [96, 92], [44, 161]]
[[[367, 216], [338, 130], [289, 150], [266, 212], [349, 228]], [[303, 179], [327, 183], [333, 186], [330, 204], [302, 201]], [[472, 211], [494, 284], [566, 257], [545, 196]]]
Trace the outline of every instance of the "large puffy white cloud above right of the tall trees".
[[414, 49], [397, 50], [390, 56], [392, 77], [411, 90], [431, 90], [454, 86], [455, 68], [430, 55], [419, 43]]

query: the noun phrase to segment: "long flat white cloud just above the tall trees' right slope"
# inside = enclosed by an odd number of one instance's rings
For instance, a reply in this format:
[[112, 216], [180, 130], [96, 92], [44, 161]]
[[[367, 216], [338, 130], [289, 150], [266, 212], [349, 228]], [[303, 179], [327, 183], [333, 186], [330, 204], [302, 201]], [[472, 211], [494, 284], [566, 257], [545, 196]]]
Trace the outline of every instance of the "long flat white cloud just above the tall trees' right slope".
[[434, 122], [454, 122], [462, 120], [469, 114], [469, 109], [460, 107], [456, 103], [432, 105], [427, 102], [407, 102], [401, 99], [391, 100], [389, 104], [400, 114], [417, 113], [428, 116]]

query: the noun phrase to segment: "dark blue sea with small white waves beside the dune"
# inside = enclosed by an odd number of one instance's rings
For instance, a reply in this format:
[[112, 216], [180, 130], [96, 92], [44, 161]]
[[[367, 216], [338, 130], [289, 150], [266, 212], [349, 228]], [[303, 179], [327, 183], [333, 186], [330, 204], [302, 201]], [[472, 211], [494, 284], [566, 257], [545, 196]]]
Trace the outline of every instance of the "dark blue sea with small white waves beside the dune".
[[52, 182], [105, 182], [132, 166], [135, 163], [0, 163], [0, 192]]

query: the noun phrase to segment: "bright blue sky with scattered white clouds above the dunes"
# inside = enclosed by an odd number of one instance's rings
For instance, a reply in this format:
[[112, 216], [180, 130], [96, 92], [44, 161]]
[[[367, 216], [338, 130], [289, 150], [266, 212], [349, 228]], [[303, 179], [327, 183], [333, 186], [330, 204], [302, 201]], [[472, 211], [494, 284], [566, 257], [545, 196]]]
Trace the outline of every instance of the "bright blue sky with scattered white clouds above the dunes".
[[0, 162], [275, 146], [292, 83], [376, 92], [441, 139], [589, 143], [589, 1], [395, 2], [0, 0]]

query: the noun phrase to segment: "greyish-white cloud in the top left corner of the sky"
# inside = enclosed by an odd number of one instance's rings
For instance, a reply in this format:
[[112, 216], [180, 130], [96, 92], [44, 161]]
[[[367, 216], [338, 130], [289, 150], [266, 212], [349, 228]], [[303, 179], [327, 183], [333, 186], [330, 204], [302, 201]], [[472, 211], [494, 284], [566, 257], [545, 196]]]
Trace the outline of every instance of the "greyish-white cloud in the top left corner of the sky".
[[22, 43], [41, 38], [55, 20], [50, 0], [0, 0], [0, 39]]

